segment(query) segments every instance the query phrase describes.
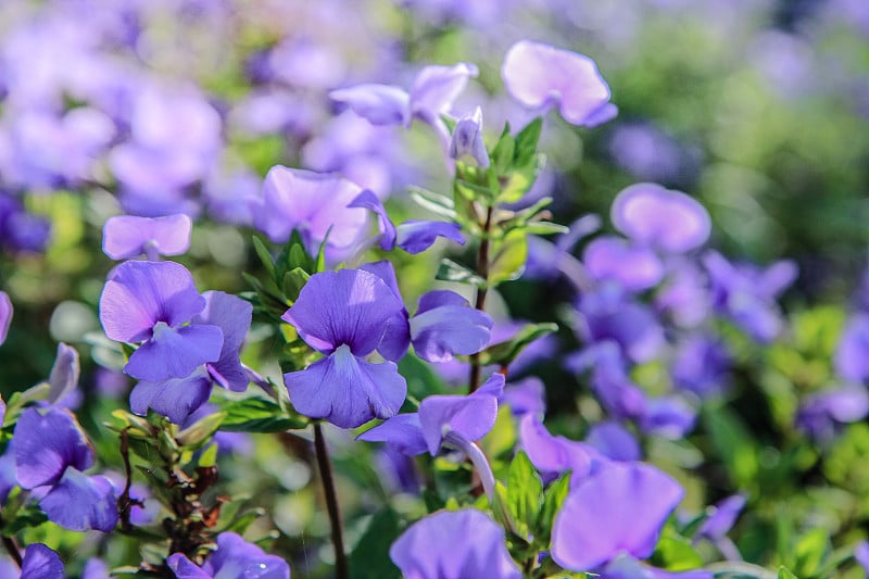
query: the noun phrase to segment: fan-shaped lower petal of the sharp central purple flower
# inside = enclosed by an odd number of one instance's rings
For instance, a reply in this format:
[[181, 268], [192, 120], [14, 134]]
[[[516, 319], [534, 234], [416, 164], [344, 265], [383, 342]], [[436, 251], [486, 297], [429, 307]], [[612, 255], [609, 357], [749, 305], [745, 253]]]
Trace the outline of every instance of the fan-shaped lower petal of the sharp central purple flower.
[[394, 416], [407, 394], [394, 363], [370, 364], [345, 344], [301, 372], [285, 374], [284, 382], [297, 411], [341, 428]]

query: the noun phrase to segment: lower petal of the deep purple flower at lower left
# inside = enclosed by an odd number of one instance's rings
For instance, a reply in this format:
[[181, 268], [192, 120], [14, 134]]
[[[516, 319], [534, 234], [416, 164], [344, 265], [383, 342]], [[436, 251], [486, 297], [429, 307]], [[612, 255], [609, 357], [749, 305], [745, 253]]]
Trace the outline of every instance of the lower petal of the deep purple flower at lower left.
[[115, 489], [105, 477], [89, 477], [67, 468], [39, 501], [48, 519], [71, 531], [110, 532], [117, 525]]

